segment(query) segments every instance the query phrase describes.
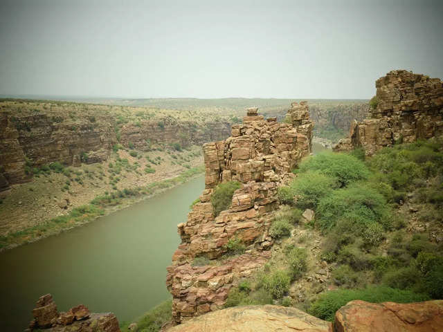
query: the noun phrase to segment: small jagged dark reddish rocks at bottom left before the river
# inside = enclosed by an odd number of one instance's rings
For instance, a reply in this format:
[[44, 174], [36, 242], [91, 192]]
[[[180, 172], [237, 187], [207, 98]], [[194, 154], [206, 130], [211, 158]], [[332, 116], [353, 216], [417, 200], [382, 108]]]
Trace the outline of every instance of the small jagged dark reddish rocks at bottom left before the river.
[[113, 313], [90, 313], [83, 304], [74, 306], [66, 313], [58, 313], [51, 294], [39, 298], [33, 316], [27, 331], [120, 332]]

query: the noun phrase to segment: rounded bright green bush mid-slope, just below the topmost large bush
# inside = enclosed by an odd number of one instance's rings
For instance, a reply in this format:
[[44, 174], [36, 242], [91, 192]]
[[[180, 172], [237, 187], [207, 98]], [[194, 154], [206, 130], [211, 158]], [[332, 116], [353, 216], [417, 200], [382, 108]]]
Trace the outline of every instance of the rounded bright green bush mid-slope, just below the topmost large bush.
[[377, 190], [359, 183], [320, 199], [316, 212], [323, 229], [333, 228], [339, 219], [349, 219], [360, 225], [382, 223], [388, 220], [389, 214], [386, 199]]

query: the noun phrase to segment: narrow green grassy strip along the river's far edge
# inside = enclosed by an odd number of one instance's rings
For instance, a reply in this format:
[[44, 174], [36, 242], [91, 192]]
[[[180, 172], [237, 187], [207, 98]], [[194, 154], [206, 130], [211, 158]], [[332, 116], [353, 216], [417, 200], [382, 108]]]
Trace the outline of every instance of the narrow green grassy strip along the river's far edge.
[[57, 216], [45, 223], [0, 237], [0, 252], [66, 232], [101, 216], [123, 210], [134, 203], [149, 199], [165, 190], [186, 183], [203, 172], [204, 167], [193, 167], [173, 178], [166, 178], [162, 181], [132, 189], [118, 190], [111, 194], [98, 195], [89, 204], [74, 208], [69, 214]]

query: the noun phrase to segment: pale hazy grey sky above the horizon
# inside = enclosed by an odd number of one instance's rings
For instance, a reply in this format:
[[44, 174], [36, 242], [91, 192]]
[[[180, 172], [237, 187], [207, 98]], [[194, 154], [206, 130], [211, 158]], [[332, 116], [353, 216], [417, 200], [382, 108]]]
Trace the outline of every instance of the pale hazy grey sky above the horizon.
[[443, 77], [443, 1], [0, 0], [0, 95], [370, 98]]

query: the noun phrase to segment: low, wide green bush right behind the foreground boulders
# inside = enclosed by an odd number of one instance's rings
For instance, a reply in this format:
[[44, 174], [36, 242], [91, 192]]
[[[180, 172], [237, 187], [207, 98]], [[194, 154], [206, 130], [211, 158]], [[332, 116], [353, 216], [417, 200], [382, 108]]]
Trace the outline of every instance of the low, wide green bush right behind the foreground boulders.
[[338, 291], [329, 291], [323, 293], [311, 304], [308, 312], [322, 320], [333, 321], [336, 311], [354, 299], [363, 301], [380, 303], [380, 302], [397, 302], [410, 303], [421, 302], [428, 299], [427, 295], [417, 294], [411, 291], [401, 291], [386, 286], [375, 286], [365, 289], [350, 290], [341, 289]]

